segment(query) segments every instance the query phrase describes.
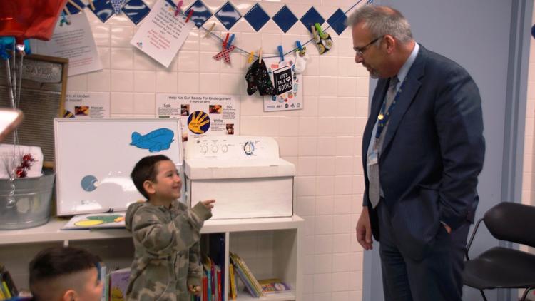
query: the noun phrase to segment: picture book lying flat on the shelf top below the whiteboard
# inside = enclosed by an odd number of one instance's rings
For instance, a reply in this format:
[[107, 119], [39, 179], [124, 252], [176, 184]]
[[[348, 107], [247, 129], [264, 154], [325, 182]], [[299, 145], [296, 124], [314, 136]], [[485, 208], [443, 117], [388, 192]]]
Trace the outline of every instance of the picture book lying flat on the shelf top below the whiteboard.
[[125, 228], [125, 215], [126, 212], [74, 215], [61, 229]]

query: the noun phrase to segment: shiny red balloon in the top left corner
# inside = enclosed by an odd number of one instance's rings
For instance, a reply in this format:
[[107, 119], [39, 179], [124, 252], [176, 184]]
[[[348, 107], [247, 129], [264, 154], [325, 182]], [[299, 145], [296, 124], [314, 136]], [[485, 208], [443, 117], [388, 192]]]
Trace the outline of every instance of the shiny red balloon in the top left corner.
[[67, 0], [0, 0], [0, 36], [49, 40]]

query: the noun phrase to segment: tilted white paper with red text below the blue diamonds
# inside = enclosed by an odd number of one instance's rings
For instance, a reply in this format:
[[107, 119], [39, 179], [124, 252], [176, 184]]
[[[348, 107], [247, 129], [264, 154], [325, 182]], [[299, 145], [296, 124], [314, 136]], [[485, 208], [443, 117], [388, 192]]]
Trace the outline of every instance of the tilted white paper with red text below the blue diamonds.
[[175, 7], [167, 1], [158, 0], [130, 44], [168, 68], [194, 24], [186, 23], [182, 14], [175, 16]]

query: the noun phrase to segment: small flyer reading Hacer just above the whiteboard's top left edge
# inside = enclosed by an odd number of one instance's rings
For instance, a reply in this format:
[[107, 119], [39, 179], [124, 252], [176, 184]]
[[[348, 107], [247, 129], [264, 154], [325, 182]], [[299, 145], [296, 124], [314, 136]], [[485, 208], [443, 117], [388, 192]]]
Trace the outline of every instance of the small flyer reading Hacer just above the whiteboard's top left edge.
[[69, 118], [109, 118], [110, 93], [68, 92], [65, 97], [65, 115]]

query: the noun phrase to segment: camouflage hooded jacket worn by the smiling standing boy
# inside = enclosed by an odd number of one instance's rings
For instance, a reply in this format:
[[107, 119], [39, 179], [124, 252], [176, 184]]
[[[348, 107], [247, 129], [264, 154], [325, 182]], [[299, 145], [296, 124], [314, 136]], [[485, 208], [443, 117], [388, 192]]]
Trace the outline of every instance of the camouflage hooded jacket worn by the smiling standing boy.
[[133, 203], [126, 212], [136, 252], [126, 300], [189, 300], [187, 285], [200, 285], [200, 228], [212, 214], [202, 203], [188, 209]]

